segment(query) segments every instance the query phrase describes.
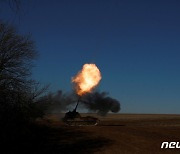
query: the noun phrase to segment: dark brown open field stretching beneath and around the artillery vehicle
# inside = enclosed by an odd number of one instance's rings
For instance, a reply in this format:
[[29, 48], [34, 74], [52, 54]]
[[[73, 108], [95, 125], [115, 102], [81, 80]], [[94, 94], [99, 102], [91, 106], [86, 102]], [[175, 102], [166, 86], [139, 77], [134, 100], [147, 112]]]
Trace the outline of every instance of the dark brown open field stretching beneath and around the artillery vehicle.
[[180, 115], [109, 114], [99, 117], [99, 126], [79, 127], [65, 126], [61, 117], [39, 120], [31, 128], [33, 133], [20, 138], [16, 146], [9, 145], [11, 152], [180, 153], [180, 149], [160, 148], [163, 141], [180, 141]]

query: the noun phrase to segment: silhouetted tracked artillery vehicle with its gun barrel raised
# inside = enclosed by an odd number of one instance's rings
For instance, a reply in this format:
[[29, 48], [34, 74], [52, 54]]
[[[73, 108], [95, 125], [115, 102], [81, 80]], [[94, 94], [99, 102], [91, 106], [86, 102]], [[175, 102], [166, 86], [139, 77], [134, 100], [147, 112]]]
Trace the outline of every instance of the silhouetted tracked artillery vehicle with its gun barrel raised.
[[100, 121], [98, 118], [92, 116], [81, 117], [79, 112], [76, 111], [79, 101], [73, 111], [65, 114], [63, 122], [69, 126], [92, 126], [97, 125]]

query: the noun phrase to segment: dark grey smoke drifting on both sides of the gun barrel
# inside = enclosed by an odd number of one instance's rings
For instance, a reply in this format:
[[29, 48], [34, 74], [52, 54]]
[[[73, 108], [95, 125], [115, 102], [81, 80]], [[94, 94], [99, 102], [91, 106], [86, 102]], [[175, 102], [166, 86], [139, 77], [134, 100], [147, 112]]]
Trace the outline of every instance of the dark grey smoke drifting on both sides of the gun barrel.
[[[68, 94], [59, 90], [41, 98], [41, 102], [46, 104], [48, 113], [60, 113], [68, 111], [69, 108], [73, 109], [78, 97], [75, 93]], [[121, 109], [120, 102], [108, 96], [107, 92], [93, 92], [83, 95], [80, 98], [80, 104], [90, 112], [95, 112], [101, 116], [105, 116], [108, 112], [117, 113]]]

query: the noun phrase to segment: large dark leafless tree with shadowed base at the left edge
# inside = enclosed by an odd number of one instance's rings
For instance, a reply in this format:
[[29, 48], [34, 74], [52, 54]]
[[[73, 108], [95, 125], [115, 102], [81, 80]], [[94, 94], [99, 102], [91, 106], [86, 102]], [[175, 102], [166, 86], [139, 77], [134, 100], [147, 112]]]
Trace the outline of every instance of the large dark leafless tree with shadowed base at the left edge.
[[12, 126], [19, 120], [28, 121], [43, 115], [37, 99], [48, 86], [43, 87], [31, 79], [33, 61], [37, 55], [29, 36], [19, 35], [14, 27], [0, 22], [1, 122]]

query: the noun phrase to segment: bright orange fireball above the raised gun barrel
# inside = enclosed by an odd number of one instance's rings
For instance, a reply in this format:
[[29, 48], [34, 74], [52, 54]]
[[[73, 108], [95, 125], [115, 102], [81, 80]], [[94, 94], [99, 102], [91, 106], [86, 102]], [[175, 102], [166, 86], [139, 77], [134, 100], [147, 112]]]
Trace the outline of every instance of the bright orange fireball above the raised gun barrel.
[[82, 70], [72, 78], [78, 95], [91, 92], [101, 80], [101, 72], [95, 64], [84, 64]]

